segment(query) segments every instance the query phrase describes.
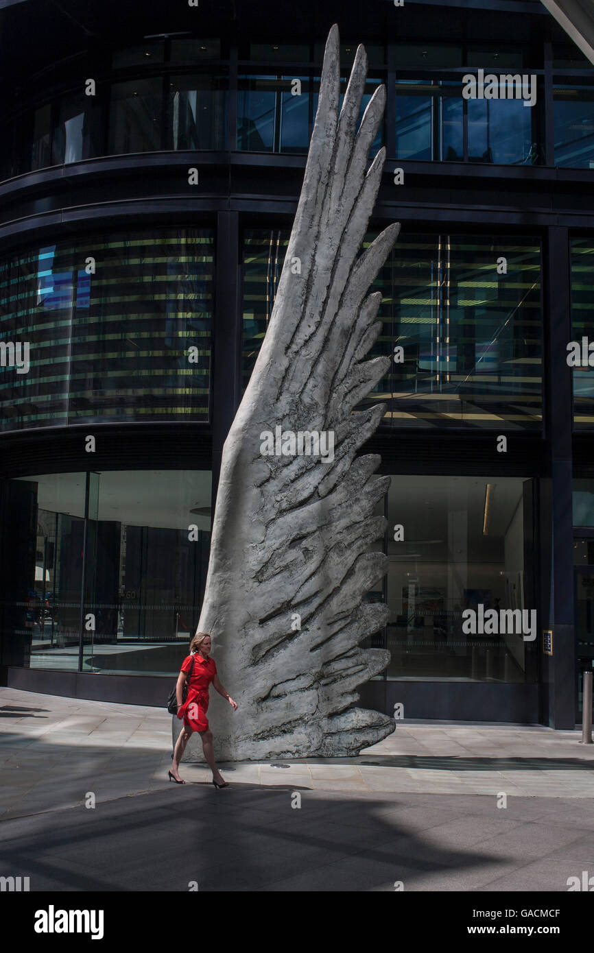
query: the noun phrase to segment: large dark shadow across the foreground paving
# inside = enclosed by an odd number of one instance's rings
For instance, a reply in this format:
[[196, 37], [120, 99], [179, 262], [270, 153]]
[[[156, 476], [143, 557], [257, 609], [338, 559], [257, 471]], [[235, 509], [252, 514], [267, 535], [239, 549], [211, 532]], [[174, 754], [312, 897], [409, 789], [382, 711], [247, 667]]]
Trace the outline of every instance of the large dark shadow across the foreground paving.
[[[421, 800], [172, 784], [97, 801], [93, 810], [2, 821], [0, 863], [6, 874], [30, 877], [33, 892], [188, 892], [193, 885], [201, 892], [360, 892], [394, 890], [399, 882], [422, 890], [436, 874], [472, 889], [473, 871], [487, 880], [498, 876], [501, 857], [424, 841], [419, 811], [431, 826], [438, 805]], [[441, 810], [444, 822], [467, 815], [467, 805]]]

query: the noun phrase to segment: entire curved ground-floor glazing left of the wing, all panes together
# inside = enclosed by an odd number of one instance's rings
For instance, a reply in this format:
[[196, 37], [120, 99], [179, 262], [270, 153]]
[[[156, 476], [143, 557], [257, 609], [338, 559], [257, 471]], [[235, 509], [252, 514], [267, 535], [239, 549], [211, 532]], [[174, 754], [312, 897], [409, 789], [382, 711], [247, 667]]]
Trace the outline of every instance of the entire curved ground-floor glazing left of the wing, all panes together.
[[178, 671], [206, 583], [210, 471], [7, 482], [23, 538], [5, 565], [4, 632], [19, 642], [19, 663], [94, 674]]

